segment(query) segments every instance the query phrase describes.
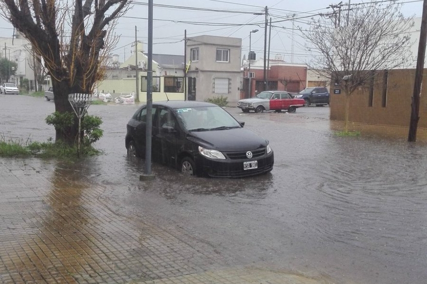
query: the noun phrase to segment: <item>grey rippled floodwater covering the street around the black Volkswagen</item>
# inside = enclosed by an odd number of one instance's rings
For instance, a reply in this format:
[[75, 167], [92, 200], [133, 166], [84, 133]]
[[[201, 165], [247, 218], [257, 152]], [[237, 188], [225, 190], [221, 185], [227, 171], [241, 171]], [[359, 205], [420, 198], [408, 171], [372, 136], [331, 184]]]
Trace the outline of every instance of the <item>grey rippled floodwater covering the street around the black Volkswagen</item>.
[[[3, 136], [54, 137], [53, 127], [44, 123], [54, 111], [52, 102], [25, 96], [0, 99]], [[104, 155], [60, 174], [108, 188], [101, 198], [117, 214], [179, 227], [233, 265], [262, 262], [344, 284], [426, 282], [423, 139], [408, 143], [394, 135], [401, 131], [394, 128], [373, 135], [372, 127], [361, 128], [361, 137], [338, 137], [334, 129], [340, 124], [329, 121], [328, 107], [300, 108], [293, 114], [244, 114], [227, 108], [270, 141], [275, 154], [270, 174], [188, 178], [153, 164], [156, 179], [141, 182], [144, 161], [127, 158], [124, 146], [126, 122], [137, 107], [91, 106], [89, 113], [103, 120], [104, 137], [97, 147]]]

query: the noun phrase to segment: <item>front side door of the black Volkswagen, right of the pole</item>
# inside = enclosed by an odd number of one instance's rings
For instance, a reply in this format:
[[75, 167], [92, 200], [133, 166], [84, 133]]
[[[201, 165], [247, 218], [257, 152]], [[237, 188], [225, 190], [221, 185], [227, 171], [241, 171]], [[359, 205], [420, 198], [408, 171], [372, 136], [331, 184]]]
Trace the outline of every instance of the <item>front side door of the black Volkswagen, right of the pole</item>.
[[171, 109], [159, 108], [156, 135], [153, 140], [156, 143], [158, 159], [167, 165], [175, 165], [177, 157], [177, 119]]

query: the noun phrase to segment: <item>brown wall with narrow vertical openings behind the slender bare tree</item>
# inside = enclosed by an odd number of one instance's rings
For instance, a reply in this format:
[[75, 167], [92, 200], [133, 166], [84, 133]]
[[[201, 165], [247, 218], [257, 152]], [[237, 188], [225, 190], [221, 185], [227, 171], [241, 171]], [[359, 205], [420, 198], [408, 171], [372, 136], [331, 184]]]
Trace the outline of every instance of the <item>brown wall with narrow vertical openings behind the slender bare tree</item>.
[[[426, 72], [426, 71], [424, 71]], [[349, 121], [364, 124], [409, 126], [411, 100], [415, 80], [415, 69], [389, 70], [386, 88], [385, 106], [383, 106], [384, 75], [378, 74], [373, 84], [372, 106], [370, 87], [356, 90], [350, 95]], [[424, 77], [423, 85], [427, 79]], [[331, 87], [330, 119], [344, 121], [344, 94], [336, 95]], [[420, 98], [419, 127], [427, 127], [427, 88], [423, 88]]]

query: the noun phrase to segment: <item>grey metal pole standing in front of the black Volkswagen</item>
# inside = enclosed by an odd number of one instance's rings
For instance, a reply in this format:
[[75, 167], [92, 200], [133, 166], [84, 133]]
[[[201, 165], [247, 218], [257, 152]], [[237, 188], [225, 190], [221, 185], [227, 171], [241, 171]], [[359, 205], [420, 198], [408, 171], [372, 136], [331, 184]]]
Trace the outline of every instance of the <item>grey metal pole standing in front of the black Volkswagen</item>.
[[153, 126], [153, 0], [148, 0], [147, 130], [145, 174], [151, 175], [151, 134]]

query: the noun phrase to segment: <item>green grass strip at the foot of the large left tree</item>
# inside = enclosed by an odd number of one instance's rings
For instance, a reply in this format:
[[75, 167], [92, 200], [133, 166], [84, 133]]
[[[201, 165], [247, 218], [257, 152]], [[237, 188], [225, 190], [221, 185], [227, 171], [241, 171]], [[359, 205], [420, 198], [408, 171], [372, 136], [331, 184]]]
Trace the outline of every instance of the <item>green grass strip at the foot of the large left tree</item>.
[[[101, 151], [80, 146], [80, 157], [96, 156]], [[77, 158], [77, 145], [63, 142], [32, 142], [30, 139], [6, 139], [0, 135], [0, 157]]]

